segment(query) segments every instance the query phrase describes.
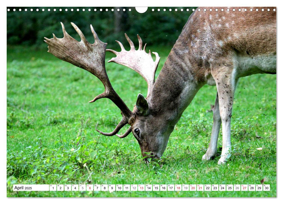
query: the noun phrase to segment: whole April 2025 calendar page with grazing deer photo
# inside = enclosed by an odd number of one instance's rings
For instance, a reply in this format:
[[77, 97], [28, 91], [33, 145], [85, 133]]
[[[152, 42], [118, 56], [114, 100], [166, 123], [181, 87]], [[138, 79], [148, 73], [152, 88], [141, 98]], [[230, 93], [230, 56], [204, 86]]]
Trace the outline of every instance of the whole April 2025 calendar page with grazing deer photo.
[[277, 8], [189, 4], [6, 7], [7, 197], [277, 196]]

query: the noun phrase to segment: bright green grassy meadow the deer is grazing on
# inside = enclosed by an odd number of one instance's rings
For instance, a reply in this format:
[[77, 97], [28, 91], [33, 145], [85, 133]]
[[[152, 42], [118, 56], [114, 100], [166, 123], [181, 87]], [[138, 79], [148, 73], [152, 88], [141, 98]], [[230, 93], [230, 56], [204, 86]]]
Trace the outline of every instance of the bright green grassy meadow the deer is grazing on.
[[[158, 74], [170, 48], [150, 49], [161, 57]], [[276, 196], [276, 75], [239, 80], [231, 123], [233, 154], [226, 164], [217, 164], [222, 133], [217, 158], [201, 161], [216, 96], [216, 87], [208, 85], [184, 111], [162, 159], [146, 164], [132, 134], [120, 139], [95, 131], [97, 123], [100, 130], [112, 131], [121, 119], [108, 99], [88, 103], [104, 91], [102, 83], [46, 51], [7, 49], [8, 197]], [[106, 70], [130, 109], [138, 93], [146, 95], [146, 82], [131, 69], [107, 63]], [[13, 184], [260, 184], [262, 179], [270, 191], [13, 191]]]

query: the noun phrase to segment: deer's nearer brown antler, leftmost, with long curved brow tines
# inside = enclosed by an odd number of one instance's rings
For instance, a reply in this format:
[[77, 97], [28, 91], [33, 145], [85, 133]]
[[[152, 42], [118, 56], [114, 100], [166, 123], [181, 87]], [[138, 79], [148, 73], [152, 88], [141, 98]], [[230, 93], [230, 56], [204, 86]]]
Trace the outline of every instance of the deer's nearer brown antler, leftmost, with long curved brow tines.
[[[45, 42], [48, 44], [48, 52], [55, 55], [61, 60], [67, 61], [75, 66], [78, 66], [82, 69], [85, 69], [95, 75], [103, 83], [105, 91], [102, 94], [96, 96], [90, 103], [101, 98], [108, 98], [115, 103], [121, 110], [122, 120], [116, 126], [115, 130], [111, 133], [104, 133], [97, 130], [99, 133], [106, 136], [113, 136], [119, 132], [119, 130], [128, 123], [129, 118], [133, 115], [133, 112], [129, 110], [124, 101], [118, 96], [114, 91], [108, 75], [105, 69], [105, 52], [107, 43], [103, 43], [99, 40], [97, 34], [95, 33], [92, 25], [90, 25], [92, 34], [94, 36], [94, 44], [90, 44], [85, 36], [82, 34], [82, 31], [74, 24], [71, 23], [77, 33], [80, 35], [81, 41], [78, 42], [72, 38], [65, 30], [63, 23], [62, 30], [64, 37], [57, 38], [53, 34], [53, 38], [48, 39], [44, 38]], [[126, 137], [130, 131], [120, 137]]]

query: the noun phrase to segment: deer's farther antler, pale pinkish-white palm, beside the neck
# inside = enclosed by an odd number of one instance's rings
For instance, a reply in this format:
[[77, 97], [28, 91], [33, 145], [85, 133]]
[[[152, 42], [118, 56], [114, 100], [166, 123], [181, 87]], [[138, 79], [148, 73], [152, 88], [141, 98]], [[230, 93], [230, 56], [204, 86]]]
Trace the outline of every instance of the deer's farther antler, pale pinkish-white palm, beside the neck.
[[127, 66], [133, 69], [134, 71], [136, 71], [137, 73], [139, 73], [147, 82], [147, 96], [148, 96], [154, 84], [154, 75], [160, 57], [157, 52], [152, 52], [156, 56], [155, 61], [153, 61], [151, 57], [151, 52], [150, 51], [149, 53], [145, 52], [146, 44], [142, 50], [143, 41], [139, 35], [138, 35], [138, 43], [139, 43], [138, 50], [135, 49], [135, 45], [133, 44], [131, 39], [127, 36], [127, 34], [125, 34], [125, 36], [131, 46], [131, 50], [126, 51], [122, 43], [116, 41], [121, 47], [121, 52], [107, 49], [106, 51], [110, 51], [116, 54], [116, 57], [113, 57], [108, 62], [115, 62], [117, 64]]

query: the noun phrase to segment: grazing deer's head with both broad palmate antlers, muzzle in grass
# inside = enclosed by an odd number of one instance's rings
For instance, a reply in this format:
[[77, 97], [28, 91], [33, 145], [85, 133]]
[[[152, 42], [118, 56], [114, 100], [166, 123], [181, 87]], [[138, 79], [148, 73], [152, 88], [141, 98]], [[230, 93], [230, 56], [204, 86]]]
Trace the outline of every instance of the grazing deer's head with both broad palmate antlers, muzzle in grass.
[[[147, 98], [150, 97], [154, 85], [154, 75], [160, 57], [156, 52], [152, 52], [156, 56], [155, 61], [152, 59], [151, 52], [149, 51], [149, 53], [147, 53], [145, 51], [146, 44], [144, 48], [142, 48], [143, 43], [140, 36], [138, 36], [138, 50], [135, 49], [133, 42], [125, 34], [131, 49], [126, 51], [122, 43], [116, 41], [121, 47], [121, 51], [117, 52], [110, 49], [106, 50], [107, 43], [103, 43], [99, 40], [92, 25], [90, 25], [90, 28], [95, 39], [94, 44], [90, 44], [86, 40], [85, 36], [74, 23], [71, 24], [79, 34], [81, 38], [80, 42], [76, 41], [66, 32], [63, 23], [61, 23], [61, 25], [64, 37], [57, 38], [53, 34], [53, 38], [45, 38], [45, 42], [48, 44], [48, 52], [61, 60], [89, 71], [103, 83], [105, 92], [89, 101], [90, 103], [101, 98], [108, 98], [120, 108], [122, 120], [111, 133], [105, 133], [98, 129], [96, 129], [96, 131], [105, 136], [116, 135], [119, 138], [124, 138], [132, 132], [138, 140], [144, 157], [160, 158], [166, 148], [170, 133], [173, 131], [173, 126], [170, 126], [170, 124], [166, 122], [168, 120], [164, 122], [160, 115], [151, 112], [151, 104], [147, 102], [147, 99], [142, 94], [138, 94], [138, 99], [133, 111], [129, 110], [109, 81], [105, 69], [105, 52], [109, 51], [116, 55], [116, 57], [113, 57], [108, 62], [115, 62], [127, 66], [139, 73], [146, 80], [148, 85]], [[129, 124], [131, 127], [124, 134], [118, 135], [119, 130], [126, 124]]]

